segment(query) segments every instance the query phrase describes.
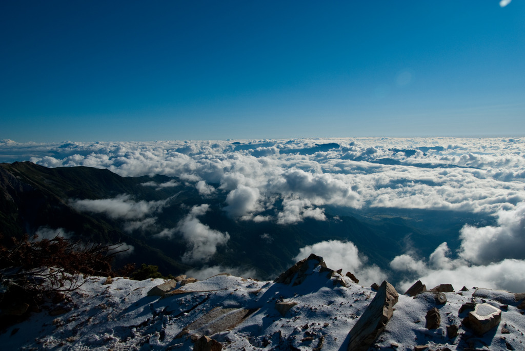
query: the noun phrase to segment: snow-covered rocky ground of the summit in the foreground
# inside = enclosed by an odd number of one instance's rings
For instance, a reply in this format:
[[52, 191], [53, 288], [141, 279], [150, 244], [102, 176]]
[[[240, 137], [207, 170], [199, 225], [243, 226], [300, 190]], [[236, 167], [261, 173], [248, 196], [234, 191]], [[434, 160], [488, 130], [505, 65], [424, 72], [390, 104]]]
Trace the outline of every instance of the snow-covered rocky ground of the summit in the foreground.
[[[113, 278], [104, 285], [105, 277], [90, 277], [70, 294], [70, 311], [51, 316], [49, 311], [57, 306], [50, 306], [35, 313], [0, 334], [0, 345], [5, 350], [186, 350], [192, 349], [192, 338], [207, 335], [228, 350], [346, 350], [350, 329], [375, 290], [338, 274], [327, 277], [320, 268], [307, 272], [296, 286], [221, 274], [184, 286], [178, 283], [177, 293], [164, 297], [148, 296], [154, 286], [164, 283], [162, 279]], [[524, 348], [525, 316], [514, 294], [454, 288], [458, 292], [445, 293], [444, 305], [436, 304], [432, 292], [414, 298], [399, 292], [394, 315], [374, 346], [398, 350], [417, 345], [433, 350]], [[297, 304], [283, 316], [275, 308], [281, 301]], [[476, 336], [461, 326], [468, 311], [458, 311], [465, 303], [484, 301], [508, 308], [501, 308], [497, 327]], [[441, 322], [439, 328], [429, 330], [425, 315], [433, 307], [438, 308]], [[459, 326], [454, 338], [447, 337], [446, 327], [451, 324]]]

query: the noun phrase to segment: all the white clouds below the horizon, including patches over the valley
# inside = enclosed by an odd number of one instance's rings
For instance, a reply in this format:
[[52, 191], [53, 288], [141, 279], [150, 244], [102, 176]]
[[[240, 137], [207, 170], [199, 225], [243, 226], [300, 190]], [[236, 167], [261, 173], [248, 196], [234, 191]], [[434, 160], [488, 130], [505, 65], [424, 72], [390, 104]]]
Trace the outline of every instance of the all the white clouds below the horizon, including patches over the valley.
[[[228, 194], [224, 211], [238, 220], [283, 225], [304, 218], [326, 220], [328, 205], [454, 210], [494, 216], [495, 226], [463, 227], [458, 232], [461, 245], [454, 254], [446, 243], [428, 258], [400, 252], [389, 269], [410, 276], [403, 288], [414, 277], [426, 280], [428, 285], [437, 285], [445, 278], [449, 282], [454, 277], [457, 282], [465, 282], [461, 284], [476, 281], [489, 288], [514, 291], [525, 291], [525, 280], [512, 273], [522, 272], [525, 266], [524, 156], [525, 138], [0, 142], [2, 162], [90, 166], [122, 176], [176, 176], [180, 182], [195, 186], [204, 199], [220, 189]], [[165, 186], [175, 185], [171, 182]], [[282, 210], [272, 212], [277, 202]], [[164, 206], [160, 202], [135, 203], [126, 195], [73, 204], [108, 216], [131, 216], [135, 220], [128, 218], [130, 231], [151, 226], [150, 216]], [[169, 237], [175, 230], [183, 233], [188, 242], [184, 257], [188, 263], [213, 254], [229, 239], [227, 233], [198, 220], [206, 210], [205, 206], [188, 209], [177, 228], [166, 228], [158, 234]], [[301, 254], [318, 250], [317, 254], [334, 256], [341, 244], [321, 242], [303, 248]], [[350, 242], [344, 247], [349, 252], [355, 248]], [[357, 248], [355, 255], [359, 258], [356, 262], [345, 260], [341, 253], [334, 263], [355, 271], [358, 278], [357, 270], [364, 269], [370, 272], [362, 276], [370, 279], [388, 275], [379, 268], [366, 267], [366, 258]]]

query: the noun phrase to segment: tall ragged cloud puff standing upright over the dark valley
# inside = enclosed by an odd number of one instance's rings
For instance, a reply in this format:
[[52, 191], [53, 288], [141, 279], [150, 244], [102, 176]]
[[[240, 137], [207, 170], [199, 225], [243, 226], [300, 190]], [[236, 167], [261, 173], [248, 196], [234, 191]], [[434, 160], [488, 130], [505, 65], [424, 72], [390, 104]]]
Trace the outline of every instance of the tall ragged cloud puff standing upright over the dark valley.
[[224, 245], [229, 240], [228, 232], [211, 229], [198, 220], [197, 216], [204, 215], [208, 208], [209, 205], [194, 206], [177, 225], [177, 230], [188, 243], [188, 250], [182, 256], [185, 263], [209, 261], [217, 252], [217, 246]]

